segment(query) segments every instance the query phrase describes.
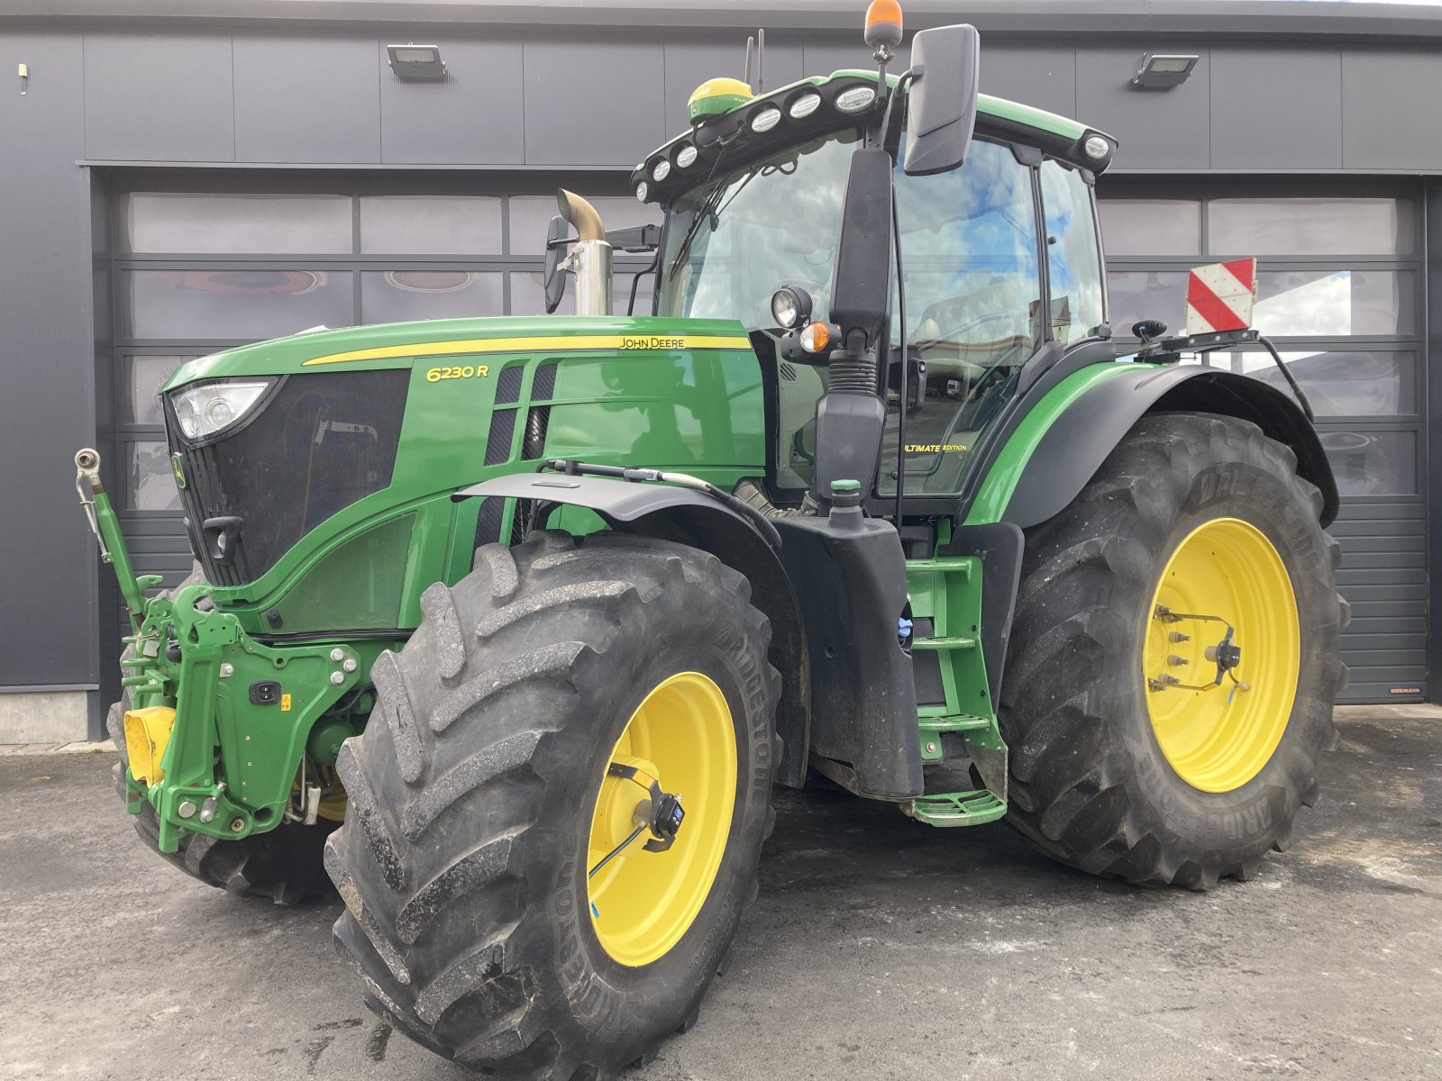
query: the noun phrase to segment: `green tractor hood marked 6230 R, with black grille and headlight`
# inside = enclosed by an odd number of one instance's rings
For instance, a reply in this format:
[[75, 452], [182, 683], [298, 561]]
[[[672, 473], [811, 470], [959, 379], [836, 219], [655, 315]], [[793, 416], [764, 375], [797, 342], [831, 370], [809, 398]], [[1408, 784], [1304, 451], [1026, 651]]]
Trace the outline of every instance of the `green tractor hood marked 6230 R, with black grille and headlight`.
[[190, 360], [162, 398], [206, 578], [265, 633], [414, 626], [394, 566], [427, 565], [428, 584], [476, 545], [523, 535], [515, 500], [477, 519], [476, 500], [450, 496], [542, 457], [727, 490], [766, 463], [760, 363], [731, 320], [314, 330]]

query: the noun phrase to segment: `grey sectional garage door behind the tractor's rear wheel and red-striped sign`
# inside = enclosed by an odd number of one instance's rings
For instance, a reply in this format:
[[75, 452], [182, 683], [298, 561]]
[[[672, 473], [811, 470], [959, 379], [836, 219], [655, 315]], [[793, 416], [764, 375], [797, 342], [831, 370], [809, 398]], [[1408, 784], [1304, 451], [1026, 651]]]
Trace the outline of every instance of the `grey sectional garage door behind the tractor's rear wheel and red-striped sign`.
[[[1112, 321], [1182, 324], [1185, 271], [1259, 257], [1256, 326], [1317, 412], [1341, 491], [1331, 532], [1353, 605], [1343, 700], [1422, 700], [1428, 646], [1426, 352], [1419, 193], [1384, 182], [1301, 187], [1103, 182]], [[1263, 350], [1211, 353], [1285, 389]]]

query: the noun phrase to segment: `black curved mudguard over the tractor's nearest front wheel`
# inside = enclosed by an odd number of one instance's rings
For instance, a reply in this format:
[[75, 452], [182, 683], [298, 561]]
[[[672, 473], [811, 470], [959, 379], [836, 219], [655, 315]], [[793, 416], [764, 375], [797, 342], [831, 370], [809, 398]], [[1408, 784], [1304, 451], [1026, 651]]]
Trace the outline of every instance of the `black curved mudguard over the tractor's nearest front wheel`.
[[493, 477], [451, 496], [453, 500], [472, 497], [535, 499], [585, 507], [600, 515], [611, 529], [711, 552], [744, 574], [751, 582], [751, 604], [771, 623], [771, 663], [782, 673], [782, 696], [776, 706], [782, 761], [776, 780], [792, 788], [806, 783], [806, 748], [810, 742], [806, 627], [786, 569], [751, 522], [691, 489], [562, 473]]

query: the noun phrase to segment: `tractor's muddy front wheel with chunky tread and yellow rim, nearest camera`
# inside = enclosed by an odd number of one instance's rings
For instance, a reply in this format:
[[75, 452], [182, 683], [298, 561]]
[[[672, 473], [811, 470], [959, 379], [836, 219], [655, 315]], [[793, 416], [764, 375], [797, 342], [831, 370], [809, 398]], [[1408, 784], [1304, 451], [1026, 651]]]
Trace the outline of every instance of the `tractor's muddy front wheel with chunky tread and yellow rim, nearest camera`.
[[[616, 533], [487, 545], [427, 591], [342, 749], [326, 852], [372, 1009], [508, 1078], [610, 1077], [694, 1022], [770, 826], [779, 677], [748, 597], [704, 552]], [[684, 788], [686, 817], [598, 866], [646, 797], [617, 762]]]

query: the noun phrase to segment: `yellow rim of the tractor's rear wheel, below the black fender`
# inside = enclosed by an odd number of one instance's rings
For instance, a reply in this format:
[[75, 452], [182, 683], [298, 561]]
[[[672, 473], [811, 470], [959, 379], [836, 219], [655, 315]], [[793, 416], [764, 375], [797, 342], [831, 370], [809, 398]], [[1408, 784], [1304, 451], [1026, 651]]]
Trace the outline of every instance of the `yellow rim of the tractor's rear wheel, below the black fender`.
[[[1145, 618], [1142, 679], [1162, 754], [1194, 788], [1240, 788], [1272, 758], [1296, 696], [1301, 628], [1282, 556], [1240, 519], [1197, 526], [1167, 561]], [[1185, 689], [1216, 682], [1229, 624], [1237, 663], [1220, 685]]]

